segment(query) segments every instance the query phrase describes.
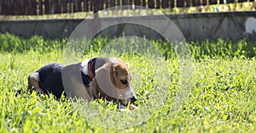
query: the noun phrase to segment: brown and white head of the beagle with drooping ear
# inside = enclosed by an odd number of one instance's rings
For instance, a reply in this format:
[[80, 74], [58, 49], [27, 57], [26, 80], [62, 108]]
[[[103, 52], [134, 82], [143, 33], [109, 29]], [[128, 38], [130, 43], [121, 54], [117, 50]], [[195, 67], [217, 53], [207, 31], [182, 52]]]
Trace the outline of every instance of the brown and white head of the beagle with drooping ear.
[[93, 86], [98, 98], [106, 98], [108, 101], [119, 100], [124, 105], [137, 101], [131, 86], [131, 72], [128, 64], [119, 58], [112, 58], [107, 64], [96, 69]]

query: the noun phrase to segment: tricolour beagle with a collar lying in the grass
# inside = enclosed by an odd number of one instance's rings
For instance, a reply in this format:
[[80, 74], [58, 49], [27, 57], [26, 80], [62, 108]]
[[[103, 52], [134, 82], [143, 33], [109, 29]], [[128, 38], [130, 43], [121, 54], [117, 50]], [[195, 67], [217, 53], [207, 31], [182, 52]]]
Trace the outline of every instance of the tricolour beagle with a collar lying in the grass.
[[28, 88], [44, 94], [52, 93], [56, 98], [62, 94], [89, 102], [105, 98], [118, 101], [121, 107], [131, 104], [131, 110], [137, 109], [130, 69], [119, 58], [91, 58], [67, 66], [47, 64], [28, 76]]

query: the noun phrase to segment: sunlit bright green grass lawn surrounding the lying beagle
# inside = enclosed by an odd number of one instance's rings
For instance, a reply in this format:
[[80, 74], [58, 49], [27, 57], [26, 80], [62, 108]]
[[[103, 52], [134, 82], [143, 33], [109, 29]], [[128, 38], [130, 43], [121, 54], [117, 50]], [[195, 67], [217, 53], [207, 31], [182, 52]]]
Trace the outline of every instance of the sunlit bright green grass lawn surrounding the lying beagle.
[[[84, 58], [97, 56], [99, 48], [111, 40], [97, 37]], [[115, 103], [104, 100], [73, 102], [64, 97], [55, 100], [51, 95], [26, 93], [27, 75], [44, 64], [61, 63], [66, 42], [0, 35], [0, 132], [256, 130], [255, 42], [189, 42], [194, 64], [191, 90], [179, 108], [173, 108], [181, 80], [179, 62], [169, 43], [150, 41], [163, 53], [168, 67], [168, 74], [165, 66], [160, 67], [163, 73], [158, 75], [166, 81], [166, 87], [158, 91], [152, 64], [137, 55], [119, 57], [130, 64], [131, 73], [139, 78], [132, 81], [140, 108], [134, 112], [120, 112]], [[23, 92], [15, 96], [16, 90]]]

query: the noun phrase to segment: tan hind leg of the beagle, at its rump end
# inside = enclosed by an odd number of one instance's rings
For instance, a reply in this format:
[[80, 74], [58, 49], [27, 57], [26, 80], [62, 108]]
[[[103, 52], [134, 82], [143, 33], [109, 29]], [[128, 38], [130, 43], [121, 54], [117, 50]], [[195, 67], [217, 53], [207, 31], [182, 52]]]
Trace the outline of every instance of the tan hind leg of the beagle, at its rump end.
[[33, 89], [35, 91], [38, 91], [41, 94], [44, 94], [44, 91], [40, 88], [39, 86], [39, 74], [38, 72], [35, 73], [31, 73], [30, 75], [28, 75], [28, 87], [27, 90], [28, 91], [32, 91]]

